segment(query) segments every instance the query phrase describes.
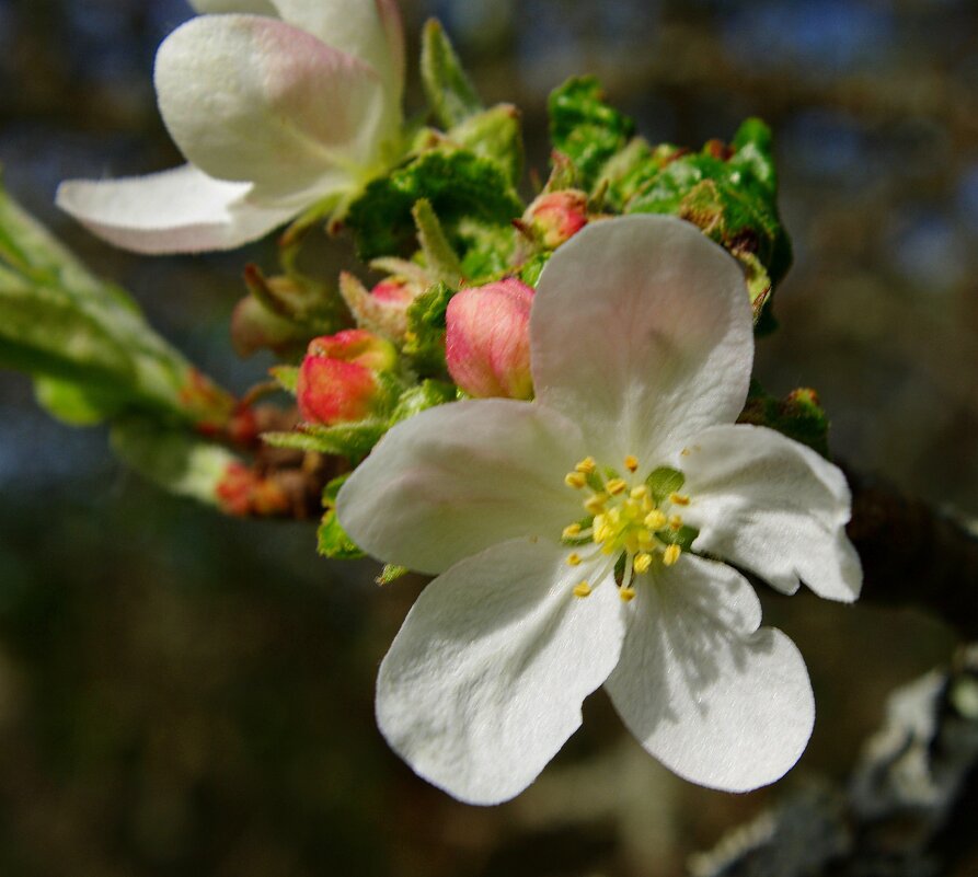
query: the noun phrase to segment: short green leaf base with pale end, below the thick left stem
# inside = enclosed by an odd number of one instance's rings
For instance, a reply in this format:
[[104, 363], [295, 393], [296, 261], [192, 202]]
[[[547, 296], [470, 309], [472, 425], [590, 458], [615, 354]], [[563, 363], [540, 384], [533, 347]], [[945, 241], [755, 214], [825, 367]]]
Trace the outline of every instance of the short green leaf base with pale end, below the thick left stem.
[[225, 448], [151, 418], [116, 422], [110, 441], [123, 462], [159, 487], [212, 506], [228, 466], [238, 462]]

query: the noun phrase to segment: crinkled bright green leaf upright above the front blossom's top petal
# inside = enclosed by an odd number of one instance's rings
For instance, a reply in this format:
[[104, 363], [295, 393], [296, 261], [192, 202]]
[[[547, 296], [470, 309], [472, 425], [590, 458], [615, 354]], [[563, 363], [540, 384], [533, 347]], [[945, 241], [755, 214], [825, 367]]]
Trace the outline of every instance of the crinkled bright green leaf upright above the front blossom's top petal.
[[589, 191], [605, 162], [628, 143], [635, 124], [605, 103], [594, 77], [567, 80], [551, 92], [546, 107], [554, 149], [574, 162], [580, 188]]

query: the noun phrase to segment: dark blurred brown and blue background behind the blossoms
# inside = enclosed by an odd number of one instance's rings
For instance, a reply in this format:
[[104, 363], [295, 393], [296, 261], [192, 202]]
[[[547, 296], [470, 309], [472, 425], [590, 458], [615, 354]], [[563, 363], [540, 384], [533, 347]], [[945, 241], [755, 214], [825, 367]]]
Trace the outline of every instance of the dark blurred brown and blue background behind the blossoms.
[[[795, 267], [758, 350], [815, 386], [835, 452], [978, 513], [978, 7], [970, 0], [404, 0], [442, 19], [488, 102], [594, 72], [652, 141], [775, 132]], [[152, 59], [183, 0], [0, 0], [0, 161], [15, 197], [205, 371], [241, 391], [227, 324], [246, 258], [114, 251], [53, 208], [65, 177], [177, 162]], [[414, 74], [414, 69], [412, 68]], [[416, 74], [415, 74], [416, 76]], [[417, 82], [409, 109], [419, 109]], [[322, 270], [348, 258], [334, 245]], [[124, 471], [0, 374], [0, 873], [14, 877], [668, 877], [785, 792], [839, 778], [887, 692], [945, 661], [912, 612], [769, 599], [819, 717], [772, 789], [691, 786], [602, 694], [515, 801], [465, 807], [376, 730], [377, 663], [422, 582], [313, 552], [311, 526], [226, 520]], [[927, 582], [921, 582], [927, 587]]]

